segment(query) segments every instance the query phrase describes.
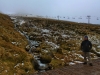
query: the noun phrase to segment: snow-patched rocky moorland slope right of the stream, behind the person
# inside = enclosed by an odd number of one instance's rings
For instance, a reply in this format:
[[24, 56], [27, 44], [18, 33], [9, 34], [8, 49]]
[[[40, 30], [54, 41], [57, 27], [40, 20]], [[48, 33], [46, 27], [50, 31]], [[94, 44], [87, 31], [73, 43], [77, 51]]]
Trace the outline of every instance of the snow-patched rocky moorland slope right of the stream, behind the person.
[[[80, 44], [88, 35], [93, 47], [92, 59], [100, 57], [100, 26], [44, 18], [12, 17], [15, 27], [30, 40], [39, 43], [32, 52], [39, 52], [54, 68], [82, 63], [83, 54]], [[37, 44], [33, 44], [36, 46]]]

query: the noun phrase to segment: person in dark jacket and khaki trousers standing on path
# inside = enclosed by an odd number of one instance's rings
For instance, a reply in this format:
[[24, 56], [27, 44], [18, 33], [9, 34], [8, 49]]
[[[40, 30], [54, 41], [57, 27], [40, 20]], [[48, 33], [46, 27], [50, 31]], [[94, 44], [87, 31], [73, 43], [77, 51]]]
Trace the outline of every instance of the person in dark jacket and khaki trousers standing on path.
[[84, 36], [84, 40], [81, 43], [81, 50], [84, 55], [84, 65], [87, 64], [87, 59], [90, 66], [93, 66], [91, 58], [90, 58], [90, 50], [92, 48], [91, 42], [88, 40], [88, 36]]

